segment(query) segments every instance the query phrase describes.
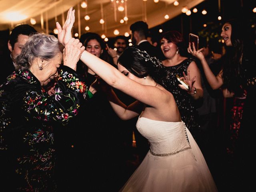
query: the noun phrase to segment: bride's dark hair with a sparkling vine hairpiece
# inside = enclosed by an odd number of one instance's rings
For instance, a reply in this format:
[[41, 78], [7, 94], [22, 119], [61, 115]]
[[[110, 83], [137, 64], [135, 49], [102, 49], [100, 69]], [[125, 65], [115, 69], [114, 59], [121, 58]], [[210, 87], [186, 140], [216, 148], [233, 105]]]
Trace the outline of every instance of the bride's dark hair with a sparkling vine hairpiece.
[[160, 83], [162, 65], [155, 57], [141, 50], [139, 46], [129, 46], [118, 58], [118, 64], [124, 66], [133, 75], [144, 78], [149, 76]]

